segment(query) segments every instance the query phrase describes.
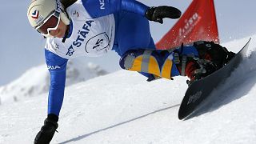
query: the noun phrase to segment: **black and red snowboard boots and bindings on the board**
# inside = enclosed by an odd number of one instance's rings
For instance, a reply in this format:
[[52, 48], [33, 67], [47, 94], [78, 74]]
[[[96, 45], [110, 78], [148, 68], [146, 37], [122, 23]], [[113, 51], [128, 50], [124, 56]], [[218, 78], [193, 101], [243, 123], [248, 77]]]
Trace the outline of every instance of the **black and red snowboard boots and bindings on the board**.
[[194, 42], [193, 46], [198, 51], [198, 56], [179, 54], [182, 62], [176, 63], [181, 75], [190, 78], [187, 80], [189, 86], [192, 82], [205, 78], [225, 66], [235, 55], [226, 47], [214, 42], [198, 41]]

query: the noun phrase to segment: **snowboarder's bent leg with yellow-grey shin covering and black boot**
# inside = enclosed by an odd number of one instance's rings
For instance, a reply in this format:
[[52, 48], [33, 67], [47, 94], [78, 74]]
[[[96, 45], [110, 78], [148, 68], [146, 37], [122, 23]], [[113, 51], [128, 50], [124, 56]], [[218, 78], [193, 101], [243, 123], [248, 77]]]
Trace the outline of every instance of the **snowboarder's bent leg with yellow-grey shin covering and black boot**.
[[233, 56], [225, 47], [202, 41], [175, 50], [129, 50], [122, 55], [120, 66], [153, 74], [154, 78], [187, 76], [193, 82], [225, 66]]

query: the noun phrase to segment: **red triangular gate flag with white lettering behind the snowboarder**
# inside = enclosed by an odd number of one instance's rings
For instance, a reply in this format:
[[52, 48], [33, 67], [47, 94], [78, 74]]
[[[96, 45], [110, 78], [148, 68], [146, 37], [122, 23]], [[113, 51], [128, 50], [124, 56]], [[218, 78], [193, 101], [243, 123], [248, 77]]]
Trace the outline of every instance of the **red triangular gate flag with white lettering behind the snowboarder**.
[[193, 0], [156, 47], [166, 50], [200, 40], [219, 43], [214, 0]]

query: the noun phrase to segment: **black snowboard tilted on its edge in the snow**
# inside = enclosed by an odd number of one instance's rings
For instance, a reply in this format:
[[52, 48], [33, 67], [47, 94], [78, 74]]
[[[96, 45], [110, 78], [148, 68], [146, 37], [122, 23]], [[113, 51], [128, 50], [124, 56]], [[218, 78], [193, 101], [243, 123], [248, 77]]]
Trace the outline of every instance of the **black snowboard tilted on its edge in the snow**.
[[[250, 38], [251, 39], [251, 38]], [[194, 81], [186, 90], [186, 94], [182, 99], [182, 104], [178, 110], [178, 118], [184, 119], [198, 110], [199, 106], [206, 101], [206, 98], [221, 82], [230, 76], [232, 71], [238, 67], [243, 58], [246, 58], [246, 53], [250, 43], [250, 39], [242, 50], [235, 54], [234, 58], [230, 60], [221, 69], [215, 71], [213, 74], [206, 76], [200, 80]]]

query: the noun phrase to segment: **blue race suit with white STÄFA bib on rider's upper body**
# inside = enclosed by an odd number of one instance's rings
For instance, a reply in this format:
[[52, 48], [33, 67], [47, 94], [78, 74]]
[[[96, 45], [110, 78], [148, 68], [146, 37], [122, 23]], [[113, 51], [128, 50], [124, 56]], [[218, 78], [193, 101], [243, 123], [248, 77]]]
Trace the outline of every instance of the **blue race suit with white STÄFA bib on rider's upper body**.
[[144, 18], [148, 6], [135, 0], [78, 0], [66, 9], [70, 33], [66, 42], [47, 38], [46, 64], [50, 71], [48, 114], [59, 115], [64, 97], [66, 64], [70, 58], [96, 57], [115, 50], [155, 49], [149, 22]]

